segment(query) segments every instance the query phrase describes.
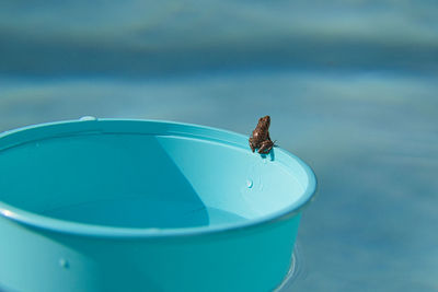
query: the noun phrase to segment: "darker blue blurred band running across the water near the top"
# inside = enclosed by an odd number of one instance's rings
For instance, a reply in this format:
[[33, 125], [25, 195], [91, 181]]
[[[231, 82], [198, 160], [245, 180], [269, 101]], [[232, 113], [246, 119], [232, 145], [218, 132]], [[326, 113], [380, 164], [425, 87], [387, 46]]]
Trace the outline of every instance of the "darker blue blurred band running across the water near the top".
[[[30, 54], [30, 51], [32, 54]], [[253, 69], [405, 70], [438, 72], [438, 47], [350, 38], [289, 36], [185, 47], [100, 44], [0, 32], [0, 74], [169, 75]]]

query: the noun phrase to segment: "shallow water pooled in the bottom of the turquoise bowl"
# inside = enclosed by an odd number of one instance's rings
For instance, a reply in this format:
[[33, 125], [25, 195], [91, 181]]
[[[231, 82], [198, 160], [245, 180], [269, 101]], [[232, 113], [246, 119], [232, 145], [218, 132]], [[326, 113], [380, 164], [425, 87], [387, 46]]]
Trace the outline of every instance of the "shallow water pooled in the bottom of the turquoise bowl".
[[85, 224], [142, 229], [210, 226], [247, 220], [217, 208], [199, 208], [195, 203], [151, 202], [147, 199], [95, 201], [58, 208], [43, 214]]

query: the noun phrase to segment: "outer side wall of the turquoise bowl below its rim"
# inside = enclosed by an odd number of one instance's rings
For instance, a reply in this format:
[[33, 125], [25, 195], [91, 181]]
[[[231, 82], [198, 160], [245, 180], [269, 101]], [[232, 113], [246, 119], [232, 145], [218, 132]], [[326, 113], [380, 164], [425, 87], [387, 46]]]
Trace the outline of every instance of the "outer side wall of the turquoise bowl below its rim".
[[300, 215], [154, 238], [73, 235], [0, 217], [0, 283], [18, 292], [272, 291], [289, 269]]

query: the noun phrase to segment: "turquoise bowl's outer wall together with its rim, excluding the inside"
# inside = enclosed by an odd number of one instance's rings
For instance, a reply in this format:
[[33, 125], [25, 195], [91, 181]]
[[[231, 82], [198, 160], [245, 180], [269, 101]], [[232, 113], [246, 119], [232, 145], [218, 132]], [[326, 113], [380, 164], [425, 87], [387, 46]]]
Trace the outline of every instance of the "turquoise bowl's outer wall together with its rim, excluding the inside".
[[[27, 128], [28, 129], [28, 128]], [[31, 127], [0, 135], [0, 150], [55, 133], [91, 131], [185, 132], [243, 149], [245, 137], [195, 125], [152, 121], [83, 121]], [[32, 130], [34, 129], [34, 130]], [[278, 152], [314, 187], [298, 159]], [[280, 160], [280, 159], [278, 159]], [[308, 179], [308, 180], [307, 180]], [[313, 179], [313, 180], [312, 180]], [[311, 183], [309, 183], [311, 182]], [[101, 229], [0, 209], [0, 289], [59, 291], [270, 291], [286, 276], [308, 187], [293, 206], [233, 227], [185, 231]], [[1, 207], [1, 206], [0, 206]], [[251, 223], [252, 222], [252, 223]], [[108, 231], [110, 230], [110, 231]], [[157, 233], [158, 232], [158, 233]], [[131, 234], [130, 234], [131, 233]], [[157, 236], [155, 236], [157, 235]]]

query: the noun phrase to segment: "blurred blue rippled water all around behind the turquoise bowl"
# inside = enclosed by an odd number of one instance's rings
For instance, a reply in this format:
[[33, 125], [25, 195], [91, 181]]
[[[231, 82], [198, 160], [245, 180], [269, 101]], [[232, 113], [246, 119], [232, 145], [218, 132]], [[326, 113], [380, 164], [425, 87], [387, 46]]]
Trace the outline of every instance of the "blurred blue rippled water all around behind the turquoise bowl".
[[0, 2], [0, 131], [159, 118], [315, 171], [293, 291], [438, 291], [438, 2]]

